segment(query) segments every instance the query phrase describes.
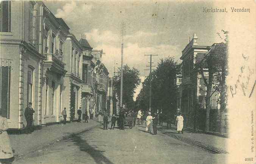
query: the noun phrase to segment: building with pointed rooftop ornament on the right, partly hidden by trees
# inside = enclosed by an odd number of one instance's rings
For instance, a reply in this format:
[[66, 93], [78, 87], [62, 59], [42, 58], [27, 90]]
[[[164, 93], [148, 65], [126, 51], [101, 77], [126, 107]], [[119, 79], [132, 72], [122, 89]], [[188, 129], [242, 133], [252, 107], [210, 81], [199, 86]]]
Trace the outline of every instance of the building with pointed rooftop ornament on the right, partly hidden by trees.
[[[210, 50], [210, 46], [200, 46], [197, 43], [197, 35], [194, 34], [192, 40], [182, 51], [182, 83], [181, 83], [181, 107], [184, 116], [184, 125], [187, 127], [194, 126], [195, 104], [200, 104], [205, 108], [206, 86], [203, 77], [194, 71], [195, 64], [200, 62], [204, 55]], [[208, 69], [204, 68], [204, 76], [208, 78]], [[177, 78], [178, 79], [178, 78]], [[179, 78], [180, 79], [180, 78]], [[218, 94], [211, 97], [211, 106], [219, 107], [217, 103]]]

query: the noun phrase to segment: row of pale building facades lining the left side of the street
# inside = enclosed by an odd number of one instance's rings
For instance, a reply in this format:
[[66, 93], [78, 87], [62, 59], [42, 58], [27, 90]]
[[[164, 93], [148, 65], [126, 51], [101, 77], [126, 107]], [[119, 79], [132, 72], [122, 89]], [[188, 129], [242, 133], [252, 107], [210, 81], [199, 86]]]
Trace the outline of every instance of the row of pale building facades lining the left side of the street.
[[[87, 40], [88, 45], [83, 38], [78, 41], [42, 1], [0, 5], [0, 110], [11, 129], [26, 126], [24, 111], [30, 102], [34, 126], [60, 122], [64, 107], [67, 120], [77, 118], [80, 106], [83, 112], [96, 110], [97, 78], [98, 100], [106, 107], [108, 71], [100, 61], [92, 61]], [[99, 64], [103, 69], [97, 72]]]

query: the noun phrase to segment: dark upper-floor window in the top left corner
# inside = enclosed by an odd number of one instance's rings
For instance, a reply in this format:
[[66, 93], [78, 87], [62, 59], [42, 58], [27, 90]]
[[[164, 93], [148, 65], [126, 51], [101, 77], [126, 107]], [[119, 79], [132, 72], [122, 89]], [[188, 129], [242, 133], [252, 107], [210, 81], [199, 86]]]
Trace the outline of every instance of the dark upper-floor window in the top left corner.
[[0, 32], [11, 32], [11, 1], [0, 3]]

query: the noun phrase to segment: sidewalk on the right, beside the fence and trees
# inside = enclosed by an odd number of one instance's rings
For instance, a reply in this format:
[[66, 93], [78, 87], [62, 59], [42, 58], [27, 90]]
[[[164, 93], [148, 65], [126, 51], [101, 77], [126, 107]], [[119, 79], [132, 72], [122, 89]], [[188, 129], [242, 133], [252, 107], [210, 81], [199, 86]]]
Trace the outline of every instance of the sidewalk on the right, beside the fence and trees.
[[175, 126], [172, 126], [171, 129], [166, 128], [166, 123], [163, 126], [158, 125], [159, 131], [162, 133], [170, 133], [172, 136], [181, 136], [192, 141], [197, 141], [208, 146], [219, 148], [222, 150], [227, 150], [229, 138], [201, 133], [201, 132], [192, 132], [189, 129], [183, 129], [184, 133], [178, 133]]

